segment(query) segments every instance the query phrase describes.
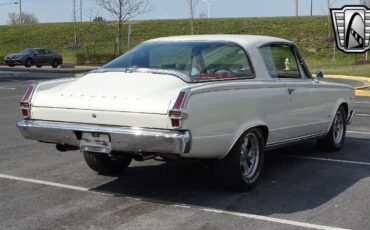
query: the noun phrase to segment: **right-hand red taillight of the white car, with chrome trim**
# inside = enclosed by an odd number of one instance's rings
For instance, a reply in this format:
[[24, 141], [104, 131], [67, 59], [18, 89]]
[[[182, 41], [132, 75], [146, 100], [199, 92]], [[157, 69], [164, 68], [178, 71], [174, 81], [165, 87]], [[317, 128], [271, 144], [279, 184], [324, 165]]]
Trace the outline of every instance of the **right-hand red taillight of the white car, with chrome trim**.
[[168, 115], [171, 119], [171, 126], [173, 128], [181, 128], [182, 120], [187, 119], [188, 115], [182, 111], [185, 106], [185, 101], [189, 94], [189, 90], [181, 90], [176, 98], [175, 104], [169, 111]]

